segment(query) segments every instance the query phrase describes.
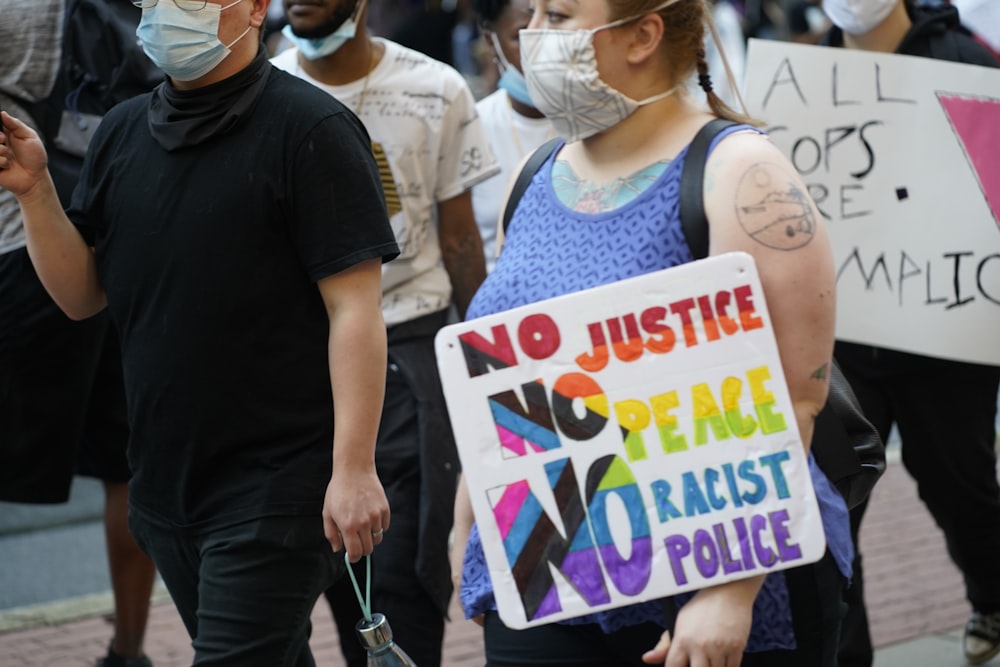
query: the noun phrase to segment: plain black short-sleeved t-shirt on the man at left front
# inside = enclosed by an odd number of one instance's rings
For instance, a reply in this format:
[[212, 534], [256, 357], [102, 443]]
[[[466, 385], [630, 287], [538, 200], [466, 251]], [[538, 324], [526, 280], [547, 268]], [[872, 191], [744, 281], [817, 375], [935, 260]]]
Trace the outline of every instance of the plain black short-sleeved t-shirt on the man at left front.
[[333, 400], [315, 282], [398, 253], [368, 134], [272, 70], [235, 128], [168, 153], [149, 99], [107, 115], [69, 212], [121, 332], [132, 505], [190, 528], [318, 515]]

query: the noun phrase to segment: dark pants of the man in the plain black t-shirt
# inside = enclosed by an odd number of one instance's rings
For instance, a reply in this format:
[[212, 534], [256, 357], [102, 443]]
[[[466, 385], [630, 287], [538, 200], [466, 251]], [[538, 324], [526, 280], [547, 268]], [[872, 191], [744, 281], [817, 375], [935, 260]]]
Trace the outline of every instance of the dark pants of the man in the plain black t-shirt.
[[313, 667], [310, 622], [344, 573], [321, 517], [269, 517], [190, 535], [131, 512], [129, 529], [163, 577], [196, 667]]

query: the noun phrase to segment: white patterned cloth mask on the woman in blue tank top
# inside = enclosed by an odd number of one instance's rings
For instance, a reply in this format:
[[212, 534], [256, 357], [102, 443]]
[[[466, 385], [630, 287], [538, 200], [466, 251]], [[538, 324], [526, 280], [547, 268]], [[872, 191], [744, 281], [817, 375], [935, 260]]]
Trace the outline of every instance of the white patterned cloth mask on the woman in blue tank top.
[[552, 121], [556, 134], [572, 143], [614, 127], [639, 107], [676, 92], [674, 86], [644, 100], [633, 100], [601, 80], [594, 52], [594, 34], [665, 9], [663, 4], [640, 16], [612, 21], [589, 30], [530, 30], [520, 32], [521, 68], [535, 107]]

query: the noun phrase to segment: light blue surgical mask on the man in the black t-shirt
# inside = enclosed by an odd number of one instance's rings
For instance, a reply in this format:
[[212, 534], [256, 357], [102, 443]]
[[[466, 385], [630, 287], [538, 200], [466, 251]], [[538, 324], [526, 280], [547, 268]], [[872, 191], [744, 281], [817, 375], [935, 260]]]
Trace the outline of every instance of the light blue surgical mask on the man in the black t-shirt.
[[219, 41], [222, 12], [242, 1], [225, 7], [209, 2], [202, 9], [189, 11], [181, 9], [175, 0], [160, 0], [155, 7], [142, 10], [135, 34], [142, 42], [142, 50], [167, 76], [194, 81], [215, 69], [229, 55], [233, 44], [250, 32], [251, 26], [247, 26], [230, 44]]

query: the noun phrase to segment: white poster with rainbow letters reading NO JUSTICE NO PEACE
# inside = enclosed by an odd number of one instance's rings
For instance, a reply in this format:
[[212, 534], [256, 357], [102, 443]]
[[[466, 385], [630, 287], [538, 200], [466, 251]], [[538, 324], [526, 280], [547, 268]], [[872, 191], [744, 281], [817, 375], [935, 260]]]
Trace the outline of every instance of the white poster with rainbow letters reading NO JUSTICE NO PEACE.
[[508, 626], [822, 556], [749, 255], [454, 324], [436, 352]]

